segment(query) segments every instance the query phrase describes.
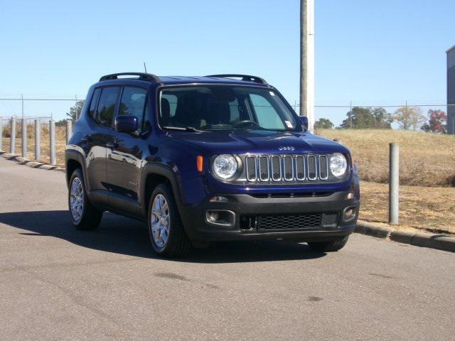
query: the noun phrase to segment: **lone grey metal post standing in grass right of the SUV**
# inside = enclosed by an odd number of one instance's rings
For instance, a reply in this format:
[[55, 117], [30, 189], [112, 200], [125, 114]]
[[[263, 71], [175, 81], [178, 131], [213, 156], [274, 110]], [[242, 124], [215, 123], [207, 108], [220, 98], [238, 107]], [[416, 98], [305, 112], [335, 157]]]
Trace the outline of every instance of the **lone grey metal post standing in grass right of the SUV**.
[[400, 187], [400, 148], [397, 144], [389, 145], [389, 224], [399, 221], [399, 187]]

